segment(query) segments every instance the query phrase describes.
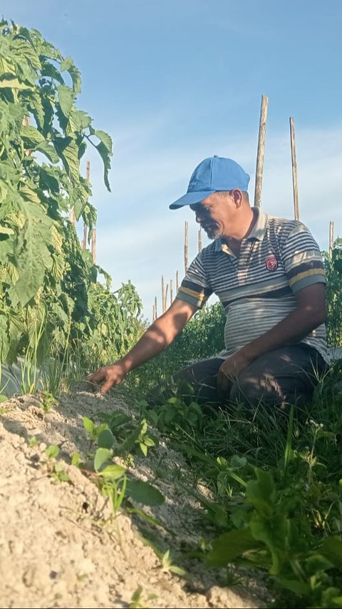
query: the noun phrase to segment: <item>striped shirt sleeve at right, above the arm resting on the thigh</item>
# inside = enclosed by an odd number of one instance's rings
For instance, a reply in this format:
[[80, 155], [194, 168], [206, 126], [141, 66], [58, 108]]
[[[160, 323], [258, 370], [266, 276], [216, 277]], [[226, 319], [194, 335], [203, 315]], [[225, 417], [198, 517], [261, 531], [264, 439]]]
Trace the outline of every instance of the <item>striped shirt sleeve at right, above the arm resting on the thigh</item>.
[[317, 242], [304, 224], [298, 222], [281, 250], [286, 275], [296, 294], [314, 283], [325, 283], [325, 270]]

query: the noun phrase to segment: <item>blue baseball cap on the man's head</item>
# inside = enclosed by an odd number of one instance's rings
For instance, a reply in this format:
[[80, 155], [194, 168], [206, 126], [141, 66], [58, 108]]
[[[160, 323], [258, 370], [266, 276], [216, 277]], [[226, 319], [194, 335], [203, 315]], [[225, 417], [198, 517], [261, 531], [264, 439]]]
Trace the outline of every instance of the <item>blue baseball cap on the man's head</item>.
[[231, 158], [217, 155], [204, 158], [190, 178], [187, 194], [170, 205], [177, 210], [183, 205], [195, 205], [217, 190], [247, 190], [249, 175]]

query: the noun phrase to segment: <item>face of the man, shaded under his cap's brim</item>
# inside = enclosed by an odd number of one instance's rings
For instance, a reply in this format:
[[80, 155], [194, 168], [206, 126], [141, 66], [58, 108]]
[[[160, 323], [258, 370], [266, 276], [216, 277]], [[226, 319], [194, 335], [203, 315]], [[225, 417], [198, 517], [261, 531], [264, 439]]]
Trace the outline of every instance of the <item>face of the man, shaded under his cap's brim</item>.
[[205, 230], [209, 239], [217, 239], [225, 234], [224, 229], [232, 213], [229, 198], [232, 197], [228, 192], [213, 193], [200, 203], [190, 205], [196, 214], [196, 222]]

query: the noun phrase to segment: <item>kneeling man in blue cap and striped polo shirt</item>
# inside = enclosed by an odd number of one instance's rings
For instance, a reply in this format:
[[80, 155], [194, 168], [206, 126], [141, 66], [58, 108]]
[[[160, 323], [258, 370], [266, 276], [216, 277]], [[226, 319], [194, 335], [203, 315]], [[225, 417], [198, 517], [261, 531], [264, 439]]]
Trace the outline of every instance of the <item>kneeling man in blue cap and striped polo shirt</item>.
[[251, 208], [249, 175], [234, 160], [199, 163], [187, 193], [170, 209], [190, 205], [214, 241], [187, 270], [175, 301], [120, 362], [90, 382], [105, 393], [130, 370], [155, 357], [213, 292], [227, 316], [225, 349], [177, 372], [199, 403], [244, 400], [283, 406], [310, 399], [326, 361], [325, 278], [318, 245], [296, 220]]

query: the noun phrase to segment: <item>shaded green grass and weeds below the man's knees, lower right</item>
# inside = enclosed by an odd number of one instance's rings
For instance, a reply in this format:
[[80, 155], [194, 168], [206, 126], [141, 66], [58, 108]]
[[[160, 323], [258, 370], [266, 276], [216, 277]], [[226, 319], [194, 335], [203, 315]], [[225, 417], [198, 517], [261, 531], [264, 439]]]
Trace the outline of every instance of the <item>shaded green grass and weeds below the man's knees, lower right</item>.
[[216, 531], [208, 567], [266, 573], [276, 607], [342, 607], [342, 360], [301, 409], [232, 404], [207, 416], [177, 397], [140, 409], [185, 454], [188, 491], [194, 475], [212, 491], [197, 493]]

